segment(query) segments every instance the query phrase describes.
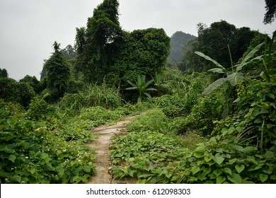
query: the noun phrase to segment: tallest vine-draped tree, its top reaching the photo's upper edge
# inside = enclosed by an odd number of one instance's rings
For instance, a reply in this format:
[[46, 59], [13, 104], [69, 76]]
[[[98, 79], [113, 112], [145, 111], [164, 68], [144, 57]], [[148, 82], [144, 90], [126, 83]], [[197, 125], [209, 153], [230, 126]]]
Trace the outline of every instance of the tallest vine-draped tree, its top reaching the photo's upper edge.
[[78, 63], [86, 81], [101, 83], [117, 56], [123, 36], [118, 6], [117, 0], [103, 1], [88, 18], [86, 28], [76, 30]]

